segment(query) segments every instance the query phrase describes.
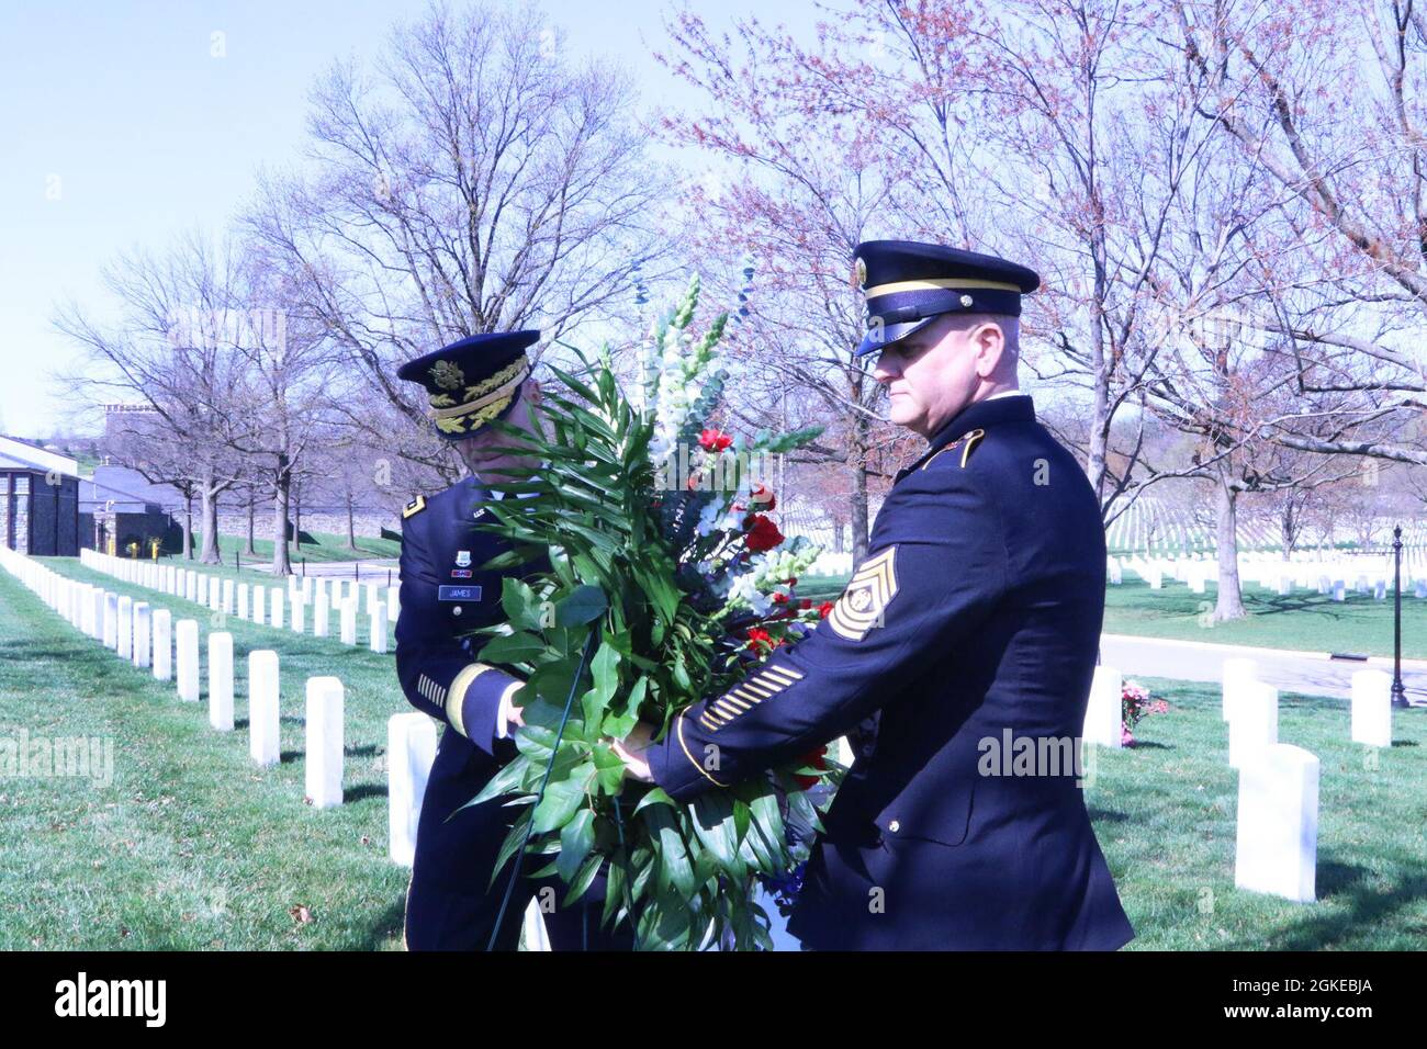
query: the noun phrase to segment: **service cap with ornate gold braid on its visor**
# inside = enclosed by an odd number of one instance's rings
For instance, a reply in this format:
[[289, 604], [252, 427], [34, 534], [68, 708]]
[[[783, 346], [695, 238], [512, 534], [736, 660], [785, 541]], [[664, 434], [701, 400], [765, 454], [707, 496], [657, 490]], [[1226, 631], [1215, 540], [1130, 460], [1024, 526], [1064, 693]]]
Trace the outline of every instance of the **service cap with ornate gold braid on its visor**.
[[511, 412], [531, 374], [525, 348], [537, 341], [538, 331], [471, 335], [407, 361], [397, 378], [424, 385], [437, 431], [461, 441]]

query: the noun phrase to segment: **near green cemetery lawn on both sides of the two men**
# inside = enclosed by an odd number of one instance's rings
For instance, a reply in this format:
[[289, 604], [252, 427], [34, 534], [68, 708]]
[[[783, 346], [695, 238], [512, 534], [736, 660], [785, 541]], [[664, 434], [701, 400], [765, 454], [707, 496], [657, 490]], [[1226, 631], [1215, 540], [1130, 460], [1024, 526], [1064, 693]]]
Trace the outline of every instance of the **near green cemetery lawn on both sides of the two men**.
[[[210, 628], [190, 602], [73, 559], [47, 564]], [[391, 657], [227, 628], [237, 731], [220, 734], [205, 694], [181, 704], [173, 682], [121, 662], [0, 572], [0, 738], [114, 744], [110, 785], [0, 778], [0, 949], [400, 949], [408, 871], [387, 859], [382, 762], [387, 718], [410, 706]], [[263, 771], [244, 731], [254, 648], [280, 652], [285, 711], [283, 762]], [[327, 811], [303, 804], [301, 696], [317, 674], [347, 686], [345, 804]], [[1319, 902], [1300, 905], [1233, 885], [1237, 779], [1217, 686], [1142, 684], [1172, 709], [1140, 722], [1139, 746], [1097, 751], [1086, 798], [1137, 931], [1129, 949], [1427, 943], [1427, 711], [1394, 714], [1393, 748], [1371, 751], [1349, 742], [1346, 702], [1281, 696], [1280, 739], [1323, 762]]]

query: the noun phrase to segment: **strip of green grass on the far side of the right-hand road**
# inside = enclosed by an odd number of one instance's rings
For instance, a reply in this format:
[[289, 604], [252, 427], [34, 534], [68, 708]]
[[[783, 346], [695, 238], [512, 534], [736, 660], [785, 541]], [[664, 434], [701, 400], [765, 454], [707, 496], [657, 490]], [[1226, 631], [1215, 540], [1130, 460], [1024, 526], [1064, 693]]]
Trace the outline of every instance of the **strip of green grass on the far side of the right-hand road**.
[[[808, 575], [798, 581], [798, 595], [813, 602], [835, 601], [848, 584], [846, 575]], [[1183, 582], [1166, 582], [1150, 589], [1142, 579], [1104, 589], [1104, 632], [1146, 638], [1203, 641], [1216, 645], [1251, 645], [1304, 652], [1353, 652], [1393, 655], [1393, 598], [1374, 601], [1353, 594], [1333, 601], [1317, 591], [1296, 589], [1279, 597], [1256, 584], [1243, 589], [1247, 619], [1206, 627], [1200, 622], [1214, 607], [1214, 584], [1194, 594]], [[1403, 658], [1427, 659], [1427, 601], [1403, 594]]]

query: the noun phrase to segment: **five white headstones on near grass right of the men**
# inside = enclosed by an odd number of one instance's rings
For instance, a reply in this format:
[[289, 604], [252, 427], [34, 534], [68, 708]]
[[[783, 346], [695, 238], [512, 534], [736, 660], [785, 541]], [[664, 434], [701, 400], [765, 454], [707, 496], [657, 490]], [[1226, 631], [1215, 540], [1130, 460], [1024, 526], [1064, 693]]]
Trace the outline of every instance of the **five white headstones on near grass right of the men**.
[[[1123, 678], [1096, 667], [1086, 705], [1085, 741], [1123, 742]], [[1393, 745], [1393, 679], [1383, 671], [1353, 675], [1351, 738], [1364, 746]], [[1287, 899], [1316, 896], [1319, 759], [1279, 742], [1279, 689], [1259, 681], [1253, 659], [1226, 659], [1223, 719], [1229, 766], [1239, 771], [1234, 885]]]

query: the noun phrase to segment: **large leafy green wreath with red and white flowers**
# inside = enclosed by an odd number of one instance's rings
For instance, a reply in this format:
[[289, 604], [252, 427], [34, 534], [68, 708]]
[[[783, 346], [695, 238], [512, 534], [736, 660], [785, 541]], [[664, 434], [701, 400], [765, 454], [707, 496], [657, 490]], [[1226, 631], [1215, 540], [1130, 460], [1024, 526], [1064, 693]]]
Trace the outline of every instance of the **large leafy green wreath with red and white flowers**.
[[[679, 804], [625, 781], [611, 739], [641, 718], [674, 716], [726, 691], [775, 648], [808, 632], [819, 609], [796, 594], [818, 551], [788, 541], [766, 514], [776, 494], [756, 462], [818, 430], [739, 441], [708, 425], [726, 374], [714, 367], [728, 315], [695, 338], [699, 285], [655, 325], [638, 401], [608, 360], [579, 355], [579, 377], [552, 368], [544, 435], [502, 427], [539, 460], [492, 485], [529, 498], [491, 504], [514, 549], [491, 567], [548, 552], [531, 582], [505, 579], [504, 627], [482, 662], [525, 679], [515, 696], [518, 756], [471, 804], [519, 806], [492, 883], [522, 846], [548, 858], [539, 876], [568, 885], [562, 905], [605, 871], [604, 921], [631, 922], [645, 949], [771, 946], [759, 879], [796, 868], [785, 815], [816, 826], [805, 789], [836, 772], [812, 756], [766, 778]], [[801, 778], [799, 778], [801, 776]]]

